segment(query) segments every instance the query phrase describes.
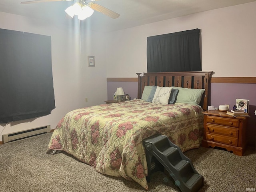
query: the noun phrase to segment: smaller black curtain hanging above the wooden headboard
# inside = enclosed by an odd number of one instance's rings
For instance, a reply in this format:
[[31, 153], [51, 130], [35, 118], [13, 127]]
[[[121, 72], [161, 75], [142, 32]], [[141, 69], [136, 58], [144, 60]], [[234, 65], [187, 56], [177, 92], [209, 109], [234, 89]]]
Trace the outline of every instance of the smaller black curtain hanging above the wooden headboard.
[[202, 71], [200, 30], [147, 37], [148, 72]]

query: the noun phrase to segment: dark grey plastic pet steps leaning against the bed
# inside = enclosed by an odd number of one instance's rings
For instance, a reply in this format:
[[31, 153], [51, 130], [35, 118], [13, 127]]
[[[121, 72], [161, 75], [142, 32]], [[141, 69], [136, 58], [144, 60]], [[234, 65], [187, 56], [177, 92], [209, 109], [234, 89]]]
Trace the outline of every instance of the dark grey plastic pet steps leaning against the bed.
[[144, 139], [143, 145], [146, 148], [148, 182], [152, 171], [165, 168], [182, 192], [197, 192], [204, 185], [203, 176], [195, 170], [191, 160], [167, 136], [156, 134]]

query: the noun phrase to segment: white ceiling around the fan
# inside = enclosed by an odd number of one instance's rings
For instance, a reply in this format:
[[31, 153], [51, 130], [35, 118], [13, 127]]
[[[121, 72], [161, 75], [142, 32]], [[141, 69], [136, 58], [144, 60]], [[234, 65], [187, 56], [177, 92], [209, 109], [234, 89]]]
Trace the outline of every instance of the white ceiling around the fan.
[[[20, 4], [21, 1], [28, 0], [0, 0], [0, 11], [67, 24], [78, 19], [64, 12], [74, 1]], [[256, 0], [99, 0], [96, 3], [120, 17], [112, 19], [95, 11], [81, 23], [90, 30], [108, 32], [253, 1]]]

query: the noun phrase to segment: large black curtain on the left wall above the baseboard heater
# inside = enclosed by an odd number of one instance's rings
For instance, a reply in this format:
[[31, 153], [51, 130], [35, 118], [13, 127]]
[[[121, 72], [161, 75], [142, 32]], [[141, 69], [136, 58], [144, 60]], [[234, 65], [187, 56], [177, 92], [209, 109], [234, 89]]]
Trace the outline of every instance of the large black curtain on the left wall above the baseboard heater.
[[0, 123], [54, 108], [51, 37], [0, 29]]

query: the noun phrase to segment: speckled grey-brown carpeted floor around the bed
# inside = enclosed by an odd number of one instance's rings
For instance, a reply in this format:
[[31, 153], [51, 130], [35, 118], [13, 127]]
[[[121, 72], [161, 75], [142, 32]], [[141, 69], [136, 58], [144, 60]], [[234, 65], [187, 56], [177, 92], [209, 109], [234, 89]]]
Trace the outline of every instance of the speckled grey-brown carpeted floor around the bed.
[[[0, 145], [2, 192], [146, 192], [136, 182], [102, 175], [66, 153], [46, 154], [52, 133]], [[199, 192], [245, 192], [256, 189], [256, 152], [244, 156], [198, 148], [185, 152], [204, 176]], [[166, 172], [155, 172], [148, 192], [179, 192]]]

